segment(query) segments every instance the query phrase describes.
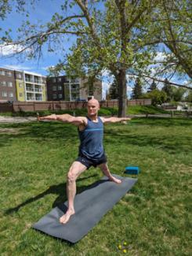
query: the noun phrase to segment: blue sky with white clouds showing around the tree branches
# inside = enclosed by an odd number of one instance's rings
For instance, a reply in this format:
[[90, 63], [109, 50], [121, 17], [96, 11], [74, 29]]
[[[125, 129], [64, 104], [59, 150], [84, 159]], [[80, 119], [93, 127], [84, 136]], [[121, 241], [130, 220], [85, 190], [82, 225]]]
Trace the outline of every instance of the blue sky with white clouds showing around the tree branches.
[[[14, 2], [14, 0], [13, 0]], [[53, 13], [60, 11], [60, 6], [63, 4], [63, 0], [36, 0], [35, 8], [30, 5], [30, 0], [27, 2], [27, 9], [29, 9], [29, 17], [27, 19], [31, 20], [31, 23], [45, 23], [49, 21], [53, 16]], [[75, 11], [75, 9], [74, 9]], [[7, 15], [5, 20], [0, 20], [0, 28], [12, 29], [13, 38], [16, 38], [16, 29], [22, 24], [22, 20], [26, 19], [26, 16], [21, 13], [17, 13], [14, 6], [11, 15]], [[0, 36], [1, 36], [0, 31]], [[66, 50], [69, 49], [71, 44], [74, 42], [74, 36], [69, 37], [69, 40], [63, 40], [63, 46]], [[8, 69], [19, 69], [28, 72], [36, 72], [44, 76], [48, 75], [47, 69], [50, 66], [54, 66], [58, 63], [60, 59], [59, 53], [50, 53], [47, 51], [47, 46], [43, 48], [42, 58], [40, 60], [27, 60], [26, 58], [18, 58], [13, 55], [13, 51], [16, 50], [13, 47], [0, 47], [0, 67], [5, 67]], [[161, 53], [159, 53], [158, 58], [162, 58]], [[106, 91], [109, 88], [111, 79], [108, 76], [109, 72], [103, 71], [103, 98], [105, 98]], [[129, 78], [129, 77], [128, 77]], [[127, 87], [128, 96], [130, 97], [132, 92], [132, 84]]]

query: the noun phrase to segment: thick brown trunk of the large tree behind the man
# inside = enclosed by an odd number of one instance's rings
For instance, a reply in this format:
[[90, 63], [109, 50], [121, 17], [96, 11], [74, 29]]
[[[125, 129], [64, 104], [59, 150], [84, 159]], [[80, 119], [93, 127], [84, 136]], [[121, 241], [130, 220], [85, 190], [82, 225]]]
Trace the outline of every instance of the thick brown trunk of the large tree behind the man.
[[127, 110], [127, 85], [125, 69], [119, 69], [118, 77], [118, 117], [126, 117]]

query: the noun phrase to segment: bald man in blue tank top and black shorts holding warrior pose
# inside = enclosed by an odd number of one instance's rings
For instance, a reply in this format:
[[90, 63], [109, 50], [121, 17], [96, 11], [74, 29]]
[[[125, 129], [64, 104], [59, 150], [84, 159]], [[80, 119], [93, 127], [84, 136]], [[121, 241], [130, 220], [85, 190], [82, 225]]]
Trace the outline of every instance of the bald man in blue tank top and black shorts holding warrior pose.
[[99, 102], [92, 98], [88, 102], [88, 116], [87, 117], [72, 117], [69, 114], [50, 115], [47, 117], [38, 117], [41, 120], [56, 120], [65, 123], [70, 123], [78, 126], [78, 134], [80, 139], [78, 158], [73, 162], [67, 174], [67, 200], [68, 209], [62, 217], [60, 223], [67, 223], [74, 212], [74, 196], [76, 194], [76, 183], [78, 176], [91, 166], [98, 166], [109, 180], [121, 184], [118, 180], [110, 174], [107, 166], [107, 158], [103, 150], [103, 124], [116, 123], [120, 121], [128, 121], [128, 117], [98, 117], [100, 109]]

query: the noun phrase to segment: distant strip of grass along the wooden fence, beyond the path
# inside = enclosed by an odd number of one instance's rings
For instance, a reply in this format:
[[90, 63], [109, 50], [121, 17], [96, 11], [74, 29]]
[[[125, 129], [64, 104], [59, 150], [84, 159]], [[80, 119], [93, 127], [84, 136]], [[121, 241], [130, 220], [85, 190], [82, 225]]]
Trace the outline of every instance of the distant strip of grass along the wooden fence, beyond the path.
[[[76, 116], [85, 116], [87, 113], [87, 109], [72, 109], [72, 110], [57, 110], [57, 111], [38, 111], [41, 116], [49, 115], [50, 113], [70, 113], [71, 115]], [[36, 116], [37, 112], [16, 112], [16, 113], [1, 113], [2, 116], [9, 116], [9, 117], [31, 117]], [[168, 113], [164, 109], [155, 107], [155, 106], [128, 106], [127, 114], [161, 114], [161, 113]], [[110, 108], [110, 107], [103, 107], [100, 109], [101, 116], [114, 116], [118, 115], [118, 108]]]

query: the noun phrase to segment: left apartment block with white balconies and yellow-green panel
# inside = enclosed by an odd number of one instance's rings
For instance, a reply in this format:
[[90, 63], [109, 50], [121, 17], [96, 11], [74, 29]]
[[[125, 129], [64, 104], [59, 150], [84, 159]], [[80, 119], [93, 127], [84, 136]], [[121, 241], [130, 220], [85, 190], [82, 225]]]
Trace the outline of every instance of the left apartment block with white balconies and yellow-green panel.
[[46, 100], [46, 76], [0, 68], [0, 102]]

